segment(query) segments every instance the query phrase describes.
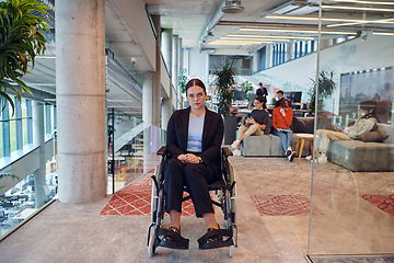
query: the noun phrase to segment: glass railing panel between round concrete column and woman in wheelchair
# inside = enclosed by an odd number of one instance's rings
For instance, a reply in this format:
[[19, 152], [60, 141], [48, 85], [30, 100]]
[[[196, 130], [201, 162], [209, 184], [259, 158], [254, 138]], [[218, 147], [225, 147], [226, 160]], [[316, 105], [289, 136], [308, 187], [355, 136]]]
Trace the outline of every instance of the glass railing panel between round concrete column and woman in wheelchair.
[[114, 135], [108, 136], [108, 194], [154, 169], [161, 160], [157, 151], [166, 140], [166, 130], [119, 112], [115, 112], [114, 122], [108, 119], [109, 127], [113, 124]]

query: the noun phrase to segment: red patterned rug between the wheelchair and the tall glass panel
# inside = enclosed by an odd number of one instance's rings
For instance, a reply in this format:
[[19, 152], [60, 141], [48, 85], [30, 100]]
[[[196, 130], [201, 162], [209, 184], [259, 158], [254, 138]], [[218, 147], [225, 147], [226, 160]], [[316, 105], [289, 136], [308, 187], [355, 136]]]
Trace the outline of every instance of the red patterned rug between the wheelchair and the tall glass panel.
[[[310, 199], [304, 195], [251, 195], [260, 216], [309, 216]], [[323, 215], [316, 207], [313, 215]]]

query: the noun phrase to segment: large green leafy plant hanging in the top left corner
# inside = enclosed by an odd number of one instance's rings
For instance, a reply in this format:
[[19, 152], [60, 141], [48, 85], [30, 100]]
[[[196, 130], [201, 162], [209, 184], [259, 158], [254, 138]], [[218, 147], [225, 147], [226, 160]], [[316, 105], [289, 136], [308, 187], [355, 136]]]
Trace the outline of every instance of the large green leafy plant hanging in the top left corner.
[[2, 110], [8, 101], [14, 111], [14, 103], [7, 94], [7, 89], [12, 89], [16, 99], [22, 100], [19, 88], [10, 81], [16, 82], [22, 93], [32, 93], [21, 78], [31, 73], [27, 66], [31, 62], [34, 68], [35, 56], [44, 54], [47, 43], [44, 30], [49, 31], [45, 19], [35, 15], [33, 11], [47, 16], [45, 10], [48, 9], [50, 8], [34, 0], [0, 2], [0, 101], [5, 102]]

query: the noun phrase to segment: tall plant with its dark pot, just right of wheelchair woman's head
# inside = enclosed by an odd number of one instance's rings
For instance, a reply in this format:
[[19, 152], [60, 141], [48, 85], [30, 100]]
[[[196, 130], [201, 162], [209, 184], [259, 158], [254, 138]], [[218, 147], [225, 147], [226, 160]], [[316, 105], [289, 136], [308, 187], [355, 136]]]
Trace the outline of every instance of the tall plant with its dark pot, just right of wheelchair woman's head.
[[237, 117], [230, 116], [230, 107], [233, 101], [233, 89], [235, 84], [233, 69], [234, 60], [225, 59], [220, 68], [215, 68], [213, 75], [216, 75], [215, 84], [218, 89], [219, 96], [219, 113], [224, 117], [224, 145], [230, 145], [235, 140]]

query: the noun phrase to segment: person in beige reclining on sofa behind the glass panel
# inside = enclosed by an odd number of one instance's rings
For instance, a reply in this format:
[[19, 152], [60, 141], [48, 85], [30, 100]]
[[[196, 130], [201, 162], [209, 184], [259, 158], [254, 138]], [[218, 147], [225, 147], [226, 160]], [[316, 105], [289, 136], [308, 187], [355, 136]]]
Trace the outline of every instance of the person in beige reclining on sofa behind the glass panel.
[[[328, 129], [317, 129], [316, 141], [317, 151], [320, 152], [318, 163], [327, 162], [327, 149], [329, 140], [350, 140], [359, 135], [371, 132], [373, 126], [378, 123], [375, 115], [376, 103], [374, 101], [363, 101], [358, 107], [358, 115], [360, 118], [354, 125], [345, 129], [338, 128], [338, 132]], [[308, 157], [306, 159], [312, 159]]]

